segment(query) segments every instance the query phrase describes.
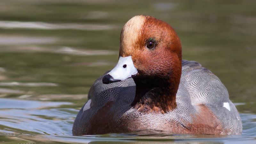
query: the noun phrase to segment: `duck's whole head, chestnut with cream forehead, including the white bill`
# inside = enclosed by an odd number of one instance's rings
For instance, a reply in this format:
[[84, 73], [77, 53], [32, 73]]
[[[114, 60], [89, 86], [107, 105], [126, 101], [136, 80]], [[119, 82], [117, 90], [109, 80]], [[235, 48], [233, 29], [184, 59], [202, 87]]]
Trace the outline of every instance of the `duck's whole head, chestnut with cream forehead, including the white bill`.
[[135, 76], [135, 83], [136, 79], [145, 83], [151, 79], [152, 83], [166, 80], [179, 85], [181, 61], [180, 39], [170, 25], [153, 17], [135, 16], [122, 29], [119, 61], [103, 77], [103, 83]]

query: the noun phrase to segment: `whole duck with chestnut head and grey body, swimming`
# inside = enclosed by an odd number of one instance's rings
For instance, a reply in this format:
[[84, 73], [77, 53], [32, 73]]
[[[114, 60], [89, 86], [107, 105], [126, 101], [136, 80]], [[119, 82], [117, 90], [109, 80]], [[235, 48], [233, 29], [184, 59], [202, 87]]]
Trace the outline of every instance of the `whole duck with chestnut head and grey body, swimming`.
[[220, 79], [182, 60], [171, 25], [138, 15], [124, 25], [118, 62], [93, 83], [72, 133], [147, 131], [241, 135], [242, 122]]

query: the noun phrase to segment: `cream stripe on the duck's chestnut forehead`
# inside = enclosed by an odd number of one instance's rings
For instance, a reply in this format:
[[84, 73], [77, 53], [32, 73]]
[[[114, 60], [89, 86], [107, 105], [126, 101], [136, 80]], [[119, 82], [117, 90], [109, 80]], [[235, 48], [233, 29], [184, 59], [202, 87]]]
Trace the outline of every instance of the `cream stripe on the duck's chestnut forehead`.
[[132, 47], [138, 40], [145, 19], [145, 16], [135, 16], [124, 25], [120, 47], [123, 48], [125, 53], [130, 54], [132, 52]]

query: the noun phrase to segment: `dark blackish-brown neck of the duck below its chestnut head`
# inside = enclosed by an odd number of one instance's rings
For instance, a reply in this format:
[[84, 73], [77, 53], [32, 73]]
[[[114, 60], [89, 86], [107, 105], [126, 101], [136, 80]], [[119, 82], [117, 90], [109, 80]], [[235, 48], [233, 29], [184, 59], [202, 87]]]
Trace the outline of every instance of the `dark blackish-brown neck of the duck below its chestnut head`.
[[143, 113], [166, 113], [176, 108], [176, 93], [180, 78], [176, 80], [137, 77], [136, 94], [132, 106]]

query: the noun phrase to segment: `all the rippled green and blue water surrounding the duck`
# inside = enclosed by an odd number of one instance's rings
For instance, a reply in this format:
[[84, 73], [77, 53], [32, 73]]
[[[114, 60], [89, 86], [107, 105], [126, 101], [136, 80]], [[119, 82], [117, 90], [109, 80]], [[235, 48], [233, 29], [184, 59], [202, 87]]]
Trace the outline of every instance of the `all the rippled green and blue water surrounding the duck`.
[[[1, 1], [0, 142], [256, 143], [255, 7], [253, 0]], [[117, 62], [122, 26], [138, 14], [171, 24], [183, 59], [221, 79], [240, 112], [241, 136], [72, 136], [90, 86]]]

